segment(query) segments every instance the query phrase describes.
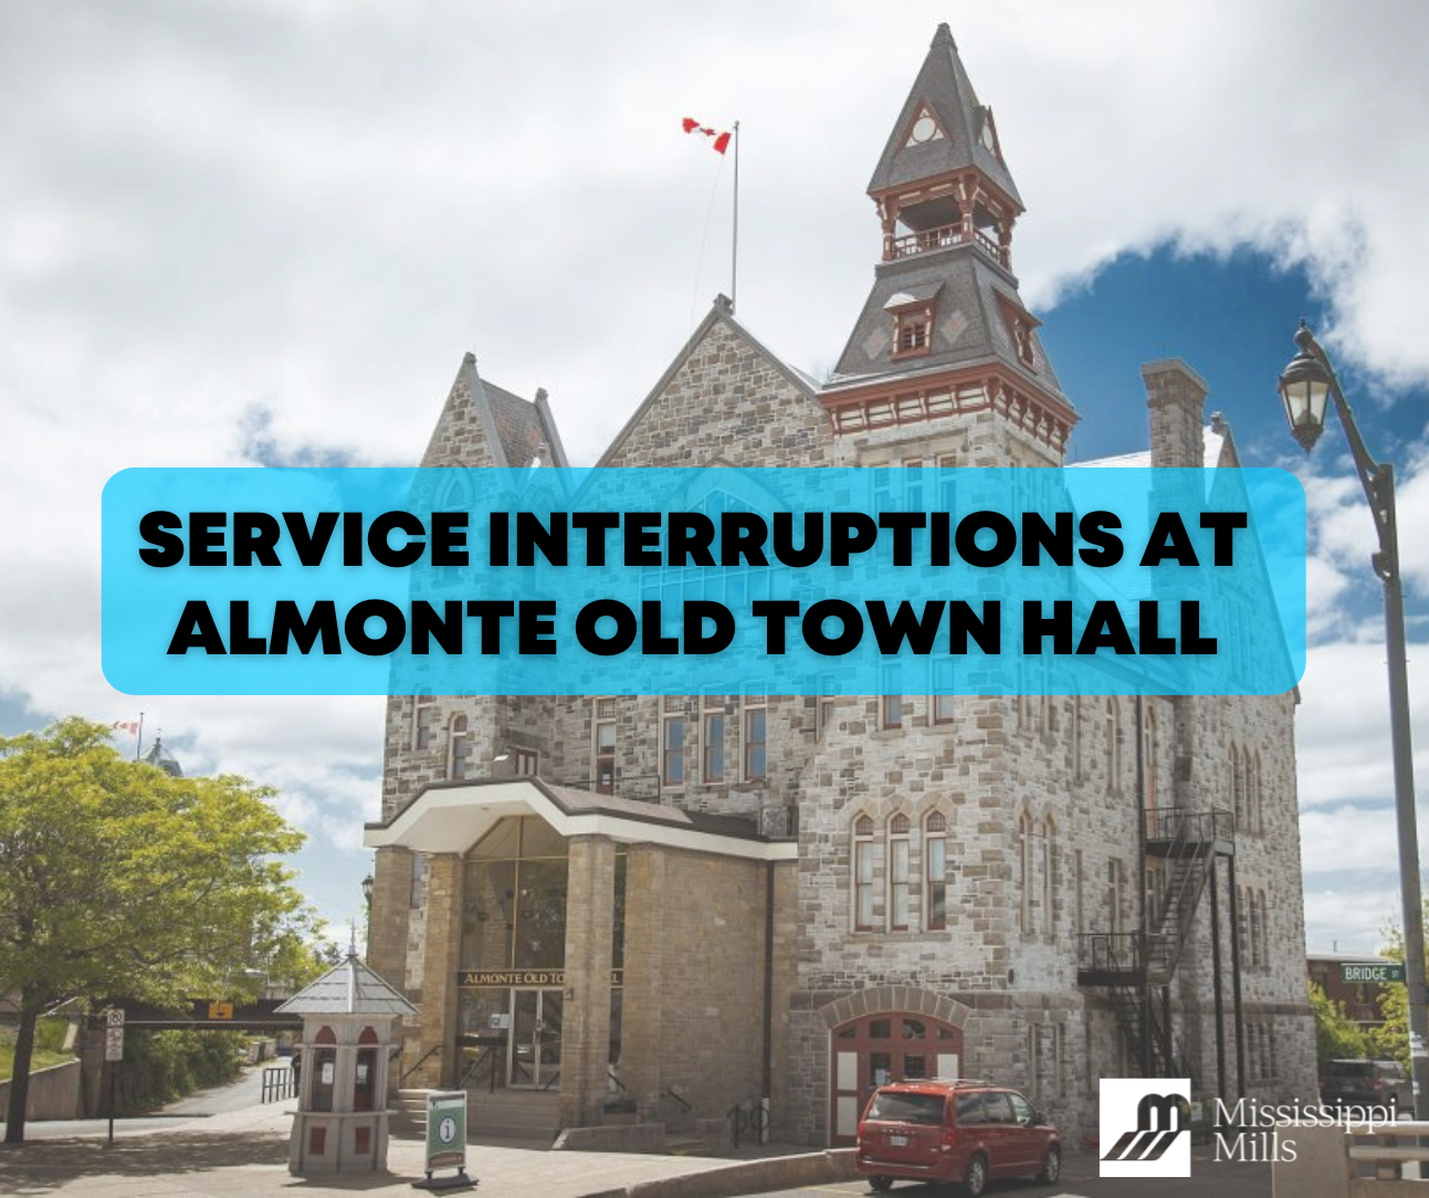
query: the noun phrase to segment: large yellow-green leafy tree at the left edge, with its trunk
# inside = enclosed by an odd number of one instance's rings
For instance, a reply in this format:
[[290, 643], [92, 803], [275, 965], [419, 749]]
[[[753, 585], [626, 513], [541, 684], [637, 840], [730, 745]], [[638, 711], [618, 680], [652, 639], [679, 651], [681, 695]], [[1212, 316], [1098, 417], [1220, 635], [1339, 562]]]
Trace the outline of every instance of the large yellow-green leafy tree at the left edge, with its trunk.
[[49, 1005], [244, 998], [310, 972], [313, 921], [276, 859], [303, 836], [273, 793], [124, 761], [83, 719], [0, 738], [0, 994], [20, 1008], [6, 1142], [24, 1139]]

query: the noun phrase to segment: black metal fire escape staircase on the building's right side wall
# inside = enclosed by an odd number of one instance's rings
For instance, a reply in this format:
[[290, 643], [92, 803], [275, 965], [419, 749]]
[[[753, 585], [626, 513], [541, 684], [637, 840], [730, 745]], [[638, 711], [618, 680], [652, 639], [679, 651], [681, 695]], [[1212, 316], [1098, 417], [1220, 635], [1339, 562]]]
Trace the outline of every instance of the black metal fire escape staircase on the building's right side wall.
[[1152, 808], [1143, 812], [1143, 821], [1145, 858], [1165, 862], [1159, 911], [1149, 929], [1079, 936], [1077, 985], [1105, 991], [1133, 1065], [1145, 1076], [1195, 1079], [1190, 1056], [1172, 1026], [1170, 982], [1190, 941], [1216, 856], [1235, 855], [1235, 818], [1228, 811]]

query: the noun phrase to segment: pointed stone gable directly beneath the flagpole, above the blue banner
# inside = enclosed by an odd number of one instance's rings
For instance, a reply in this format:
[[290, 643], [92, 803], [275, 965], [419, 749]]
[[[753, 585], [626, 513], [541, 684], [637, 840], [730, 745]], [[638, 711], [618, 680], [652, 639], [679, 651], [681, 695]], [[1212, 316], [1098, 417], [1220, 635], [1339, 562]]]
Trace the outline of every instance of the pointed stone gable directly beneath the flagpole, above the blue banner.
[[816, 393], [720, 296], [597, 465], [827, 465], [832, 433]]

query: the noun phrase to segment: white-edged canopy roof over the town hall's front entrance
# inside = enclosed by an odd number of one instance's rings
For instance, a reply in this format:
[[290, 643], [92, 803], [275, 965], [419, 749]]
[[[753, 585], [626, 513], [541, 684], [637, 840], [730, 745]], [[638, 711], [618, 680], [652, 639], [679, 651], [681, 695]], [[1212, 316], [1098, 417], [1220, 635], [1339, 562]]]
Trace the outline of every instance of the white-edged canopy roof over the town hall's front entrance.
[[609, 836], [620, 843], [793, 861], [792, 841], [760, 836], [750, 821], [552, 786], [539, 778], [486, 778], [433, 782], [386, 822], [369, 823], [370, 849], [397, 845], [414, 852], [466, 852], [509, 815], [536, 815], [562, 836]]

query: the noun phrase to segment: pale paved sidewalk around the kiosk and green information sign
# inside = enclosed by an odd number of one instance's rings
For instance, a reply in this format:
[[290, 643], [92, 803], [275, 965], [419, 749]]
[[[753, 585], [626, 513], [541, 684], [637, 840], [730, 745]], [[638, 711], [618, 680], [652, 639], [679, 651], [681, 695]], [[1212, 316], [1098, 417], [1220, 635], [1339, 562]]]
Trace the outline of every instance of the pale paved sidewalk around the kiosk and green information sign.
[[[94, 1198], [147, 1198], [149, 1195], [319, 1195], [350, 1192], [417, 1194], [410, 1184], [423, 1175], [423, 1147], [413, 1139], [393, 1139], [387, 1152], [390, 1175], [304, 1181], [287, 1172], [289, 1112], [294, 1104], [276, 1102], [197, 1119], [170, 1119], [154, 1128], [116, 1125], [114, 1147], [103, 1135], [37, 1139], [19, 1147], [0, 1145], [0, 1194], [94, 1195]], [[785, 1149], [787, 1152], [787, 1149]], [[819, 1154], [822, 1157], [822, 1154]], [[640, 1185], [640, 1195], [747, 1194], [752, 1172], [819, 1168], [807, 1157], [775, 1157], [740, 1165], [739, 1177], [720, 1175], [733, 1162], [720, 1158], [642, 1157], [627, 1152], [547, 1152], [527, 1147], [473, 1144], [467, 1148], [467, 1175], [482, 1195], [532, 1195], [532, 1198], [594, 1198], [624, 1195]], [[704, 1177], [694, 1187], [679, 1178]], [[669, 1181], [670, 1187], [649, 1185]], [[644, 1185], [642, 1185], [644, 1184]], [[735, 1188], [729, 1188], [729, 1187]], [[460, 1192], [460, 1191], [457, 1191]]]

